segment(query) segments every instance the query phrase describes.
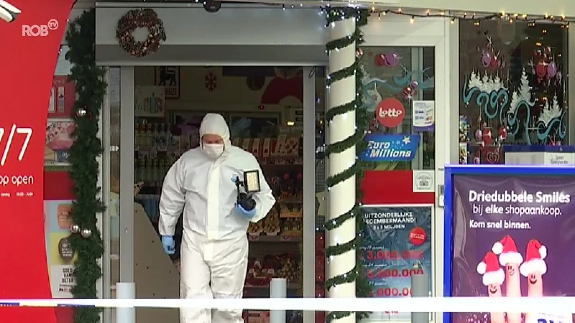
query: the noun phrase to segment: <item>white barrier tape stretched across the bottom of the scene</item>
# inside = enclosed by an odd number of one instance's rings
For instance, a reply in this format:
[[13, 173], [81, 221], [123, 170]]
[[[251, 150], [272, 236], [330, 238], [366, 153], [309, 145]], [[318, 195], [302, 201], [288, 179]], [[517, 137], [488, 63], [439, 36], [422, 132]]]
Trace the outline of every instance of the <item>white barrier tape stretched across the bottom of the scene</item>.
[[575, 297], [0, 299], [17, 307], [156, 307], [351, 312], [575, 313]]

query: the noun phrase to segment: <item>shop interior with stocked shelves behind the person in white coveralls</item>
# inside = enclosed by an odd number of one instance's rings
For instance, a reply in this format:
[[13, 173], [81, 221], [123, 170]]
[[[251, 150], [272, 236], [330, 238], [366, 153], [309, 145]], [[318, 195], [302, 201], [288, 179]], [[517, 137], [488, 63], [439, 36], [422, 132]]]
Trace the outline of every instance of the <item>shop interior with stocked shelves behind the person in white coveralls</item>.
[[[320, 80], [316, 87], [317, 143], [323, 143], [321, 82], [325, 76], [323, 68], [314, 72]], [[135, 202], [143, 206], [140, 212], [145, 212], [156, 234], [163, 178], [183, 152], [200, 144], [198, 129], [206, 113], [222, 114], [232, 144], [253, 153], [261, 164], [277, 204], [248, 229], [250, 264], [244, 297], [269, 297], [271, 278], [287, 279], [288, 297], [302, 296], [303, 76], [301, 67], [135, 68]], [[321, 185], [323, 172], [316, 177]], [[317, 218], [318, 223], [322, 221]], [[181, 219], [175, 239], [179, 250]], [[318, 235], [317, 240], [323, 237]], [[322, 259], [316, 262], [321, 296], [324, 262], [323, 255], [318, 256]], [[179, 252], [171, 260], [179, 270]], [[177, 290], [178, 285], [173, 287]], [[246, 322], [260, 314], [246, 312]], [[287, 317], [289, 322], [302, 321], [300, 313]]]

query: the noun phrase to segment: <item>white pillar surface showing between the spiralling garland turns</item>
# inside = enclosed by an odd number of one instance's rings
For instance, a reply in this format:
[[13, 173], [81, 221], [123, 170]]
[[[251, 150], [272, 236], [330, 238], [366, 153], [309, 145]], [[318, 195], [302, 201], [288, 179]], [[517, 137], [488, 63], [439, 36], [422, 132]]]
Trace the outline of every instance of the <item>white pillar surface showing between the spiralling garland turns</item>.
[[[333, 22], [329, 28], [329, 39], [348, 37], [355, 32], [355, 18]], [[355, 42], [347, 47], [329, 52], [329, 72], [343, 70], [355, 62]], [[355, 100], [355, 75], [333, 82], [329, 87], [328, 107], [343, 105]], [[355, 111], [333, 118], [327, 123], [328, 145], [338, 143], [355, 133]], [[355, 163], [355, 146], [346, 151], [331, 153], [327, 159], [328, 176], [336, 176]], [[344, 182], [328, 187], [328, 220], [333, 220], [348, 212], [355, 205], [355, 176]], [[329, 230], [329, 246], [348, 243], [355, 239], [355, 218], [344, 222], [338, 228]], [[355, 249], [328, 259], [328, 278], [346, 274], [354, 269]], [[340, 284], [328, 290], [328, 297], [355, 297], [355, 282]], [[355, 314], [333, 321], [334, 323], [355, 323]]]

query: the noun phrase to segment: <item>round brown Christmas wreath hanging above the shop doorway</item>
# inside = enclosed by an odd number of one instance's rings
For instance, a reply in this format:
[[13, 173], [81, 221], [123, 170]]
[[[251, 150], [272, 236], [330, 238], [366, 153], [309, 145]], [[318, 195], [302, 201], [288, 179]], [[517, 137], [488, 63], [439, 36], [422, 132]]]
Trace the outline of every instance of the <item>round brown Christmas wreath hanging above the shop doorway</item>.
[[[148, 29], [148, 37], [144, 41], [134, 39], [136, 28]], [[160, 43], [166, 41], [164, 22], [152, 9], [130, 10], [118, 21], [116, 38], [130, 56], [145, 57], [158, 51]]]

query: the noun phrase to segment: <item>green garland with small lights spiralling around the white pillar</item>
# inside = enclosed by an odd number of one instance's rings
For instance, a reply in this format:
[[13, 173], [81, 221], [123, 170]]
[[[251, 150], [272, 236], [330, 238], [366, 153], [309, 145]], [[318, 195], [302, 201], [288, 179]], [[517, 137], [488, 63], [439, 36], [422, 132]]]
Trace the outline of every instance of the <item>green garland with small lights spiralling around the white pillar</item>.
[[[326, 52], [329, 55], [329, 52], [335, 51], [336, 49], [347, 47], [355, 42], [356, 52], [359, 52], [359, 45], [361, 45], [363, 40], [363, 33], [361, 31], [361, 27], [367, 25], [367, 18], [369, 17], [369, 11], [366, 9], [358, 9], [354, 7], [328, 7], [325, 9], [325, 20], [327, 21], [327, 25], [331, 25], [332, 22], [342, 21], [346, 18], [353, 17], [355, 18], [355, 32], [351, 35], [351, 37], [343, 37], [341, 39], [336, 39], [329, 41], [325, 44]], [[333, 82], [336, 82], [340, 79], [346, 78], [348, 76], [355, 74], [355, 93], [356, 97], [354, 101], [345, 103], [340, 106], [333, 107], [329, 109], [327, 113], [325, 113], [325, 120], [327, 122], [333, 120], [335, 116], [340, 114], [344, 114], [350, 111], [355, 111], [355, 125], [356, 125], [356, 132], [352, 136], [339, 141], [338, 143], [328, 145], [325, 148], [325, 156], [329, 157], [331, 153], [338, 153], [343, 152], [348, 148], [351, 148], [355, 145], [355, 149], [357, 154], [359, 155], [362, 151], [367, 148], [367, 143], [363, 140], [365, 134], [367, 133], [367, 129], [369, 126], [369, 116], [365, 109], [358, 109], [362, 105], [362, 76], [363, 73], [361, 68], [359, 68], [359, 60], [361, 57], [356, 56], [355, 62], [350, 66], [343, 68], [342, 70], [332, 71], [329, 74], [329, 78], [327, 80], [328, 86]], [[348, 168], [346, 171], [341, 172], [338, 175], [331, 176], [325, 180], [325, 183], [328, 187], [332, 187], [335, 184], [341, 183], [344, 180], [351, 178], [351, 176], [355, 175], [356, 178], [356, 199], [357, 201], [362, 200], [362, 191], [361, 191], [361, 181], [365, 176], [365, 164], [362, 163], [359, 159], [356, 160], [356, 163]], [[361, 245], [362, 245], [362, 232], [364, 221], [363, 217], [356, 216], [361, 214], [360, 203], [356, 203], [351, 210], [348, 212], [340, 215], [339, 217], [328, 221], [325, 223], [324, 227], [326, 230], [333, 230], [338, 226], [342, 225], [343, 222], [350, 220], [351, 218], [355, 218], [356, 223], [356, 238], [348, 243], [339, 244], [336, 246], [329, 246], [325, 248], [325, 256], [337, 256], [350, 251], [352, 249], [356, 250], [356, 264], [355, 268], [346, 274], [335, 276], [329, 278], [325, 282], [326, 289], [330, 289], [335, 287], [339, 284], [343, 283], [350, 283], [355, 281], [355, 296], [356, 297], [370, 297], [373, 291], [371, 284], [367, 281], [367, 276], [364, 272], [364, 265], [363, 265], [363, 258], [361, 252]], [[326, 320], [331, 322], [332, 320], [338, 320], [339, 318], [343, 318], [349, 316], [351, 312], [331, 312], [328, 314]], [[355, 317], [356, 321], [361, 321], [363, 318], [366, 318], [370, 313], [369, 312], [356, 312]]]

